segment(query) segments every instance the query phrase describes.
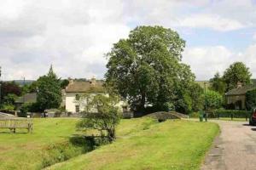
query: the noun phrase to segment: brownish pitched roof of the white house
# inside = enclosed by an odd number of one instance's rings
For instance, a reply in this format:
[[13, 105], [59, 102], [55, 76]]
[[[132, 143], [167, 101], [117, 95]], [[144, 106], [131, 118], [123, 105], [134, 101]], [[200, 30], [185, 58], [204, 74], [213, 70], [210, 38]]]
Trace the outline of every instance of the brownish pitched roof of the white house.
[[66, 93], [103, 93], [105, 88], [103, 87], [103, 81], [72, 81], [66, 88]]

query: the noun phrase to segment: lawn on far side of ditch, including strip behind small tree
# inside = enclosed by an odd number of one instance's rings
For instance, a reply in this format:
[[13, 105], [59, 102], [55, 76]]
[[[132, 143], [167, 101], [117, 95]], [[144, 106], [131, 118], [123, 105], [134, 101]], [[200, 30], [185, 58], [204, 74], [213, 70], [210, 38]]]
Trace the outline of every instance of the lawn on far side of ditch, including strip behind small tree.
[[[56, 160], [56, 156], [63, 156], [62, 152], [65, 152], [65, 156], [78, 155], [83, 148], [74, 148], [68, 144], [69, 138], [76, 133], [75, 124], [78, 120], [75, 118], [33, 119], [33, 133], [26, 133], [26, 130], [9, 133], [9, 129], [0, 129], [0, 170], [41, 169], [49, 163], [67, 159], [57, 157]], [[122, 120], [117, 133], [121, 138], [148, 128], [154, 123], [151, 119]]]

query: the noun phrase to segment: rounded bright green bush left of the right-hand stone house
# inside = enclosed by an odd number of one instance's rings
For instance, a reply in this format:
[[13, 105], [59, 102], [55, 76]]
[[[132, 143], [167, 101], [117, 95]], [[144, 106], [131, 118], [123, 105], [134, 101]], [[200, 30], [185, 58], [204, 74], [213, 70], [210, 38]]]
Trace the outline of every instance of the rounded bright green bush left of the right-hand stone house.
[[218, 92], [207, 90], [206, 104], [208, 111], [219, 109], [223, 104], [223, 97], [221, 94], [218, 94]]

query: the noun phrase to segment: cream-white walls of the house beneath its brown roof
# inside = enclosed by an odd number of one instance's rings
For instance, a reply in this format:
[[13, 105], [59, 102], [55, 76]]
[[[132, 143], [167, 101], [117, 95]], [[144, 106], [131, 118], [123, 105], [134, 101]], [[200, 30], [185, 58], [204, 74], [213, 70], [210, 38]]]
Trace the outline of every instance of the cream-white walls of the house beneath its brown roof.
[[[79, 94], [80, 99], [79, 101], [76, 100], [76, 95]], [[92, 93], [90, 95], [96, 95], [96, 94], [103, 94], [103, 93]], [[83, 97], [88, 94], [84, 93], [67, 93], [66, 94], [66, 111], [75, 113], [76, 112], [76, 105], [79, 105], [79, 111], [85, 111], [86, 110], [86, 105], [87, 105], [87, 98]], [[108, 94], [106, 94], [108, 95]], [[117, 105], [119, 107], [119, 110], [122, 112], [123, 111], [123, 106], [127, 105], [127, 102], [125, 101], [120, 101], [119, 104]]]

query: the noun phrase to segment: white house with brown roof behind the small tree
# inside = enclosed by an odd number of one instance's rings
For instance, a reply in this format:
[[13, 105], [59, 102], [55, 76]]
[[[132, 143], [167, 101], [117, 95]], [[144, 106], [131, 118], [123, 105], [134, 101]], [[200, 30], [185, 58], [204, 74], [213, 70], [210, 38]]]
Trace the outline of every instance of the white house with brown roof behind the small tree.
[[[96, 80], [96, 78], [90, 81], [70, 80], [66, 88], [66, 111], [72, 113], [85, 111], [87, 98], [84, 96], [96, 94], [106, 94], [102, 80]], [[120, 101], [118, 106], [120, 111], [127, 111], [127, 102]]]

